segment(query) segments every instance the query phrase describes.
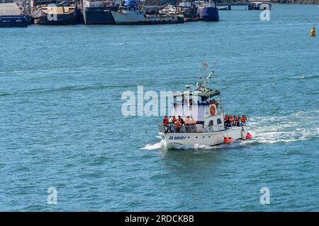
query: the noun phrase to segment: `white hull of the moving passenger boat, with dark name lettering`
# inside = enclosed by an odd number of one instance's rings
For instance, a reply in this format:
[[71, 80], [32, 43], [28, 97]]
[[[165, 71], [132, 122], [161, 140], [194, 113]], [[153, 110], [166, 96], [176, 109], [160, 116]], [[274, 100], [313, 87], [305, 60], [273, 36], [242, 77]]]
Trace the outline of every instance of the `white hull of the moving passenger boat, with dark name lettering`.
[[207, 133], [159, 133], [164, 138], [164, 145], [167, 149], [186, 148], [194, 145], [220, 145], [224, 143], [225, 137], [232, 137], [233, 140], [245, 139], [247, 126], [234, 126], [230, 129]]

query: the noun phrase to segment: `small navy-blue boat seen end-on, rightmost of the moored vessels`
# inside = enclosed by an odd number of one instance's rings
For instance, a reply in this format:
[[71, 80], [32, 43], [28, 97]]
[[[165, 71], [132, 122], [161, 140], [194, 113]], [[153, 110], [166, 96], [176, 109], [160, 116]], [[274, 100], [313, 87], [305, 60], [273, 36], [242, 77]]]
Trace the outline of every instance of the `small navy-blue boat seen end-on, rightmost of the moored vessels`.
[[198, 15], [199, 19], [203, 21], [219, 21], [218, 8], [216, 2], [199, 1], [198, 2]]

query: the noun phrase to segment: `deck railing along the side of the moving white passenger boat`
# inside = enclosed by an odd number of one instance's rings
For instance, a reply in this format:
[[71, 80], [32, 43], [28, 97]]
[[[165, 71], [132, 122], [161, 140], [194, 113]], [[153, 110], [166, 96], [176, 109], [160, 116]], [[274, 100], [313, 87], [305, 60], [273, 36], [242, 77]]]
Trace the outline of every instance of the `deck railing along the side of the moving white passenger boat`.
[[160, 133], [209, 133], [209, 132], [217, 132], [224, 131], [226, 129], [230, 129], [227, 126], [203, 126], [203, 125], [183, 125], [180, 126], [179, 129], [173, 124], [163, 125], [160, 124], [159, 132]]

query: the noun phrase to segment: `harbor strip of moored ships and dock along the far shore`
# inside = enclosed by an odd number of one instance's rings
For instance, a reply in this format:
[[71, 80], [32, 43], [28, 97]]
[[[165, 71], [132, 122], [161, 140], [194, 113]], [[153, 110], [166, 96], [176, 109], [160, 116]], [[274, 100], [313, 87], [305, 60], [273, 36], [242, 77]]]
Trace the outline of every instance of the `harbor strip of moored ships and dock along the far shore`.
[[[15, 1], [15, 2], [13, 2]], [[38, 25], [163, 24], [218, 21], [218, 10], [232, 6], [261, 9], [264, 1], [216, 3], [178, 0], [4, 0], [0, 4], [1, 27]]]

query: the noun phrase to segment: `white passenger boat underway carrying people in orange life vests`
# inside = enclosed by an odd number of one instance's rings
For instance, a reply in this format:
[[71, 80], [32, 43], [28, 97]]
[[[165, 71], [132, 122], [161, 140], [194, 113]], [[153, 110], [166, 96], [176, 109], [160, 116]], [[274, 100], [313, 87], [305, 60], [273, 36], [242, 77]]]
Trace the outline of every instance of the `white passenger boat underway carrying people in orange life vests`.
[[[208, 87], [213, 72], [204, 70], [203, 83], [186, 85], [184, 92], [174, 93], [172, 124], [160, 124], [159, 136], [167, 149], [189, 148], [196, 145], [220, 145], [252, 138], [245, 121], [230, 121], [224, 114], [220, 91]], [[174, 121], [176, 119], [176, 121]], [[183, 119], [184, 124], [179, 124]], [[236, 119], [237, 120], [237, 119]]]

